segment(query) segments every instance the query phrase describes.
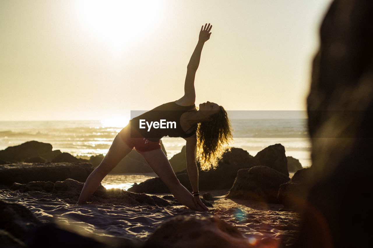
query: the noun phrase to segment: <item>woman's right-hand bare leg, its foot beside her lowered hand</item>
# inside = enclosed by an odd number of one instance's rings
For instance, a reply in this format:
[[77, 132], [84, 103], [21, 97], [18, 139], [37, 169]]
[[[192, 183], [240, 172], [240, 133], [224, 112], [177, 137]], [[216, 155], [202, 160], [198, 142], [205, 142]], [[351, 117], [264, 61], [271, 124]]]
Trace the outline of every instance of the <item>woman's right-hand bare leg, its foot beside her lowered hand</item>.
[[160, 179], [167, 185], [175, 198], [190, 209], [198, 211], [206, 211], [200, 206], [196, 206], [193, 201], [193, 195], [180, 184], [179, 179], [176, 177], [175, 172], [170, 165], [166, 155], [161, 149], [153, 150], [150, 152], [139, 152], [144, 156], [153, 171]]

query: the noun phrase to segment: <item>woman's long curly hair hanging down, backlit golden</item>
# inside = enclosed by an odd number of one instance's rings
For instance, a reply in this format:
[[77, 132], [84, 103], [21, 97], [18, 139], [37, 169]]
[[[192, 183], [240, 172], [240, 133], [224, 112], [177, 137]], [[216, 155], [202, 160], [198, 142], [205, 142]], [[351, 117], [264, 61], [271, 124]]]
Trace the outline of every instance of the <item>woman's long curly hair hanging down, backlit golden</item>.
[[210, 121], [201, 122], [197, 127], [197, 159], [204, 171], [216, 169], [223, 153], [231, 150], [231, 121], [225, 109], [219, 107], [220, 111], [211, 115]]

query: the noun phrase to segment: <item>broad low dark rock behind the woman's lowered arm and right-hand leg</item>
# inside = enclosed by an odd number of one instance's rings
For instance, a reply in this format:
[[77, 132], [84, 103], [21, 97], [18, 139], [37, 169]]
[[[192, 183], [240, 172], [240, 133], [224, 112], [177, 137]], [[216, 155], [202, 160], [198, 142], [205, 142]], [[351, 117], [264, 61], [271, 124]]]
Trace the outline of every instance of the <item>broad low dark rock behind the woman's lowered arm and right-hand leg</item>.
[[[247, 151], [241, 148], [232, 148], [230, 152], [224, 153], [216, 170], [201, 171], [199, 168], [199, 189], [218, 190], [231, 188], [239, 169], [251, 168], [257, 165], [260, 165], [258, 160], [250, 156]], [[192, 191], [188, 172], [184, 170], [175, 174], [181, 184], [189, 191]], [[160, 178], [151, 178], [140, 184], [134, 184], [128, 191], [148, 194], [170, 193], [170, 190]]]

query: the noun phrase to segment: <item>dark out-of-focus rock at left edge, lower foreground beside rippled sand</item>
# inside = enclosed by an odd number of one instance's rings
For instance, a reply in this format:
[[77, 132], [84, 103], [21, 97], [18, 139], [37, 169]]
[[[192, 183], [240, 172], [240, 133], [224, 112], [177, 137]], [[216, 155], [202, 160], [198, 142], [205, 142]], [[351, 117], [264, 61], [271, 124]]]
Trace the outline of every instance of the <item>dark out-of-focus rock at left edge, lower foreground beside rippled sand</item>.
[[0, 229], [25, 242], [31, 238], [32, 231], [40, 225], [40, 220], [25, 206], [0, 199]]

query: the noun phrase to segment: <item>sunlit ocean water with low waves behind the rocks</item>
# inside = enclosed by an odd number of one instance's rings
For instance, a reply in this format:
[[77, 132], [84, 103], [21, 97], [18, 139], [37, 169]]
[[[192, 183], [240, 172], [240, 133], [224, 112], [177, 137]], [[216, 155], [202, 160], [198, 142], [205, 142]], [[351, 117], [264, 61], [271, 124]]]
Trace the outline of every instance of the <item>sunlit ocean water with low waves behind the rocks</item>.
[[[265, 147], [280, 143], [285, 147], [286, 156], [299, 159], [303, 167], [311, 166], [307, 119], [231, 119], [231, 123], [234, 130], [232, 147], [242, 148], [255, 156]], [[50, 143], [53, 150], [89, 159], [92, 155], [105, 155], [116, 134], [127, 124], [128, 120], [0, 121], [0, 150], [36, 140]], [[182, 138], [163, 137], [162, 142], [169, 159], [185, 145]], [[126, 181], [120, 186], [126, 189], [130, 184], [150, 177], [154, 175], [108, 175], [103, 185], [119, 185], [118, 180]]]

